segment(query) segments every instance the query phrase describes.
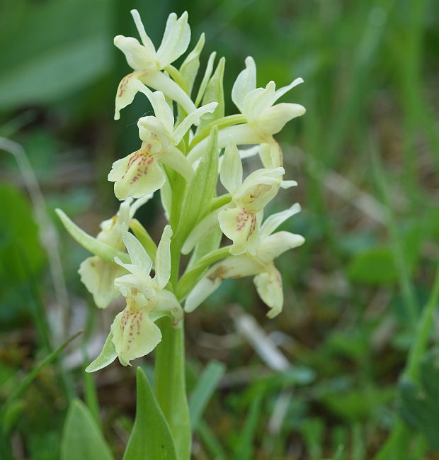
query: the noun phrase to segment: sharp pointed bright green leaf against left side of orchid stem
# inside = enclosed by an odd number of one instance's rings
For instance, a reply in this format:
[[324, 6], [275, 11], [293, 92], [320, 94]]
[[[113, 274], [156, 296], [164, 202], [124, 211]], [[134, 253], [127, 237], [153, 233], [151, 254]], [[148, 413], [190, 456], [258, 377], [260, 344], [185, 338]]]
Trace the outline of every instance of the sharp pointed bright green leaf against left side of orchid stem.
[[147, 376], [137, 368], [136, 420], [123, 460], [176, 460], [171, 431], [152, 393]]

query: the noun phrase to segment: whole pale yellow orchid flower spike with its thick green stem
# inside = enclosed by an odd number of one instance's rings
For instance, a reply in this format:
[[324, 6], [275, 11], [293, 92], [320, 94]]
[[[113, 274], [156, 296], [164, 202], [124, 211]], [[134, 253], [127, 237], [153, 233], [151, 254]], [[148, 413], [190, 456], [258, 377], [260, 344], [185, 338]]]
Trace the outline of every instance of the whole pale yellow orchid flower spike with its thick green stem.
[[[247, 57], [232, 89], [239, 113], [225, 116], [224, 59], [214, 72], [215, 54], [211, 55], [193, 95], [204, 35], [179, 69], [172, 65], [190, 43], [188, 14], [169, 16], [156, 50], [139, 13], [131, 13], [142, 43], [115, 37], [115, 46], [133, 70], [119, 84], [115, 120], [137, 94], [146, 96], [154, 116], [139, 118], [139, 150], [115, 161], [108, 174], [120, 209], [101, 224], [97, 237], [86, 234], [62, 211], [57, 213], [72, 237], [93, 254], [82, 262], [79, 274], [96, 306], [106, 308], [118, 296], [126, 303], [115, 316], [101, 354], [86, 371], [98, 371], [116, 358], [131, 366], [131, 361], [156, 349], [154, 395], [145, 390], [149, 396], [144, 398], [152, 398], [156, 422], [163, 427], [157, 442], [166, 438], [166, 459], [188, 460], [183, 313], [201, 305], [224, 279], [253, 276], [268, 317], [275, 317], [283, 308], [275, 259], [304, 242], [300, 235], [275, 231], [300, 211], [297, 203], [264, 219], [278, 191], [296, 185], [284, 179], [282, 151], [273, 135], [304, 113], [299, 104], [276, 103], [302, 79], [278, 90], [274, 82], [258, 88], [256, 64]], [[243, 145], [253, 147], [239, 150]], [[242, 160], [249, 155], [259, 155], [261, 167], [244, 178]], [[226, 192], [220, 195], [219, 181]], [[168, 223], [156, 245], [135, 213], [157, 192]], [[221, 245], [227, 240], [231, 244]], [[191, 254], [190, 260], [185, 262], [182, 254]], [[179, 277], [182, 267], [186, 268]], [[142, 458], [153, 458], [153, 444], [145, 444], [149, 450]], [[124, 459], [140, 458], [130, 457], [132, 446], [130, 442]]]

